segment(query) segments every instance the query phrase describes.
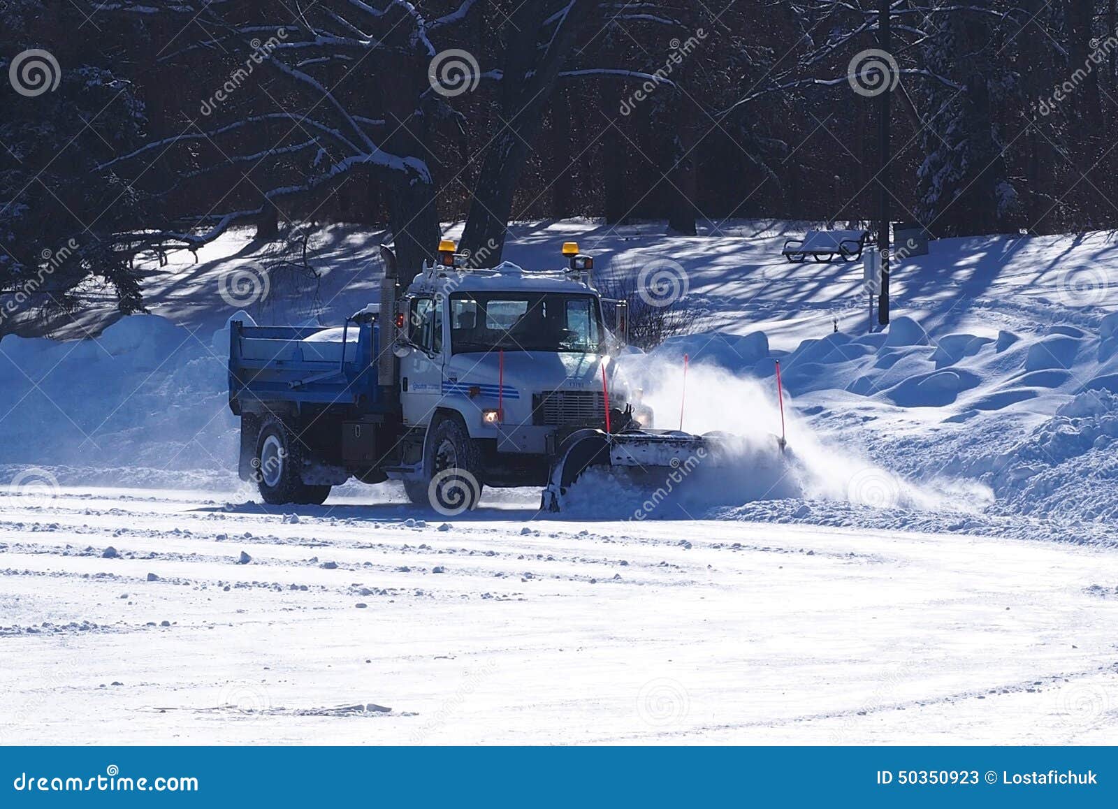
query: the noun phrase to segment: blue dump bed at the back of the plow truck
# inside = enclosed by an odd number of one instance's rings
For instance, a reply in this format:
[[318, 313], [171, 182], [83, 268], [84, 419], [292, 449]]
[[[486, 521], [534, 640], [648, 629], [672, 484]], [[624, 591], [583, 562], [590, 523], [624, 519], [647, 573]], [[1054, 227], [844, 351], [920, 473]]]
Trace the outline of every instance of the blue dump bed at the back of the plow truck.
[[382, 409], [375, 323], [347, 327], [229, 324], [229, 404], [253, 402], [340, 406], [357, 412]]

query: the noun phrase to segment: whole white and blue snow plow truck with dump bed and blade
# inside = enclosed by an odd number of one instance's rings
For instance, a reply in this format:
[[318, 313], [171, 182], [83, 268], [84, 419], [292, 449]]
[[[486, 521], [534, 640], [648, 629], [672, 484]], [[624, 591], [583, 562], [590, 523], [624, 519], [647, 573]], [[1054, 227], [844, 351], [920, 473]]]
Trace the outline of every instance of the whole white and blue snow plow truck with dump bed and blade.
[[562, 255], [558, 269], [474, 268], [444, 240], [405, 287], [385, 247], [381, 303], [341, 326], [231, 318], [240, 477], [277, 505], [397, 479], [454, 515], [485, 486], [540, 486], [541, 508], [560, 511], [587, 469], [684, 463], [707, 439], [652, 428], [615, 362], [625, 303], [603, 298], [576, 244]]

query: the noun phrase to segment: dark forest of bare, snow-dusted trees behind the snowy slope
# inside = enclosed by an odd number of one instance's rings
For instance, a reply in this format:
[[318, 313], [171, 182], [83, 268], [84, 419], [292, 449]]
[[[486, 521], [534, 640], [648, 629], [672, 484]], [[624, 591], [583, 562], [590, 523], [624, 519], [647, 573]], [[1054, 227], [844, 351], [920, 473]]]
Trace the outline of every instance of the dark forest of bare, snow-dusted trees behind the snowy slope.
[[[893, 0], [896, 218], [1115, 227], [1115, 4]], [[875, 0], [7, 0], [3, 75], [28, 49], [58, 72], [0, 89], [0, 293], [49, 270], [57, 305], [93, 283], [134, 311], [138, 255], [243, 225], [386, 227], [418, 265], [452, 220], [493, 261], [519, 219], [872, 220], [878, 104], [847, 74], [878, 19]]]

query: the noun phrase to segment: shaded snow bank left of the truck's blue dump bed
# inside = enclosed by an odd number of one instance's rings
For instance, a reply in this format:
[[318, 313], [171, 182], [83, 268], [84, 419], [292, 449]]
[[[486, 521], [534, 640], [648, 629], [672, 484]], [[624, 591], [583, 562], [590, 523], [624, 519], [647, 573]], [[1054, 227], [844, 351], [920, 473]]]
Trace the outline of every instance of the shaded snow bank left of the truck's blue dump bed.
[[[0, 464], [236, 470], [227, 359], [192, 332], [133, 315], [95, 340], [0, 341]], [[138, 476], [148, 473], [138, 472]]]

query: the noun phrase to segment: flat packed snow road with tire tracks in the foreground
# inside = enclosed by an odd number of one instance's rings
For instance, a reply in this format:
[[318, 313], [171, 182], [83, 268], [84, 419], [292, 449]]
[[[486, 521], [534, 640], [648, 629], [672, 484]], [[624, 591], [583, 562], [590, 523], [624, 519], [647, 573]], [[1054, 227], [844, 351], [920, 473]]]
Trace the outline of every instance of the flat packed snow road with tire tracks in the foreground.
[[9, 497], [2, 741], [1118, 741], [1114, 550], [534, 514]]

